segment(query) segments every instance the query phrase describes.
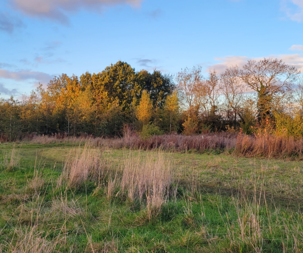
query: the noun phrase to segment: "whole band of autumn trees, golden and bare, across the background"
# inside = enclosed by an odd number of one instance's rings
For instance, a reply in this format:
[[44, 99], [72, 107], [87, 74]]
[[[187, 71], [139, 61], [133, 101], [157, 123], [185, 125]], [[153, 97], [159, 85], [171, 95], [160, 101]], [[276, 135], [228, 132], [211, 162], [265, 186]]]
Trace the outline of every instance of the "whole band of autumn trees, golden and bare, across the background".
[[2, 141], [32, 134], [113, 137], [125, 128], [142, 137], [268, 131], [300, 138], [303, 82], [279, 59], [250, 60], [223, 73], [196, 66], [175, 76], [136, 72], [119, 61], [99, 73], [54, 77], [21, 101], [0, 99]]

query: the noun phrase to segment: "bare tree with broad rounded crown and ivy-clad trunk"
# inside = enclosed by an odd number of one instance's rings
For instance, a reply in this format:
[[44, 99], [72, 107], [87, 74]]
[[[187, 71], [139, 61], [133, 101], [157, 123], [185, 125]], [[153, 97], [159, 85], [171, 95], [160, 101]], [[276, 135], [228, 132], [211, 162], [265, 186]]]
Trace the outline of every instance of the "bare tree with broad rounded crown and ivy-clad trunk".
[[271, 115], [272, 101], [292, 89], [299, 73], [295, 67], [272, 58], [250, 60], [243, 66], [241, 78], [248, 89], [258, 94], [258, 111], [261, 119]]

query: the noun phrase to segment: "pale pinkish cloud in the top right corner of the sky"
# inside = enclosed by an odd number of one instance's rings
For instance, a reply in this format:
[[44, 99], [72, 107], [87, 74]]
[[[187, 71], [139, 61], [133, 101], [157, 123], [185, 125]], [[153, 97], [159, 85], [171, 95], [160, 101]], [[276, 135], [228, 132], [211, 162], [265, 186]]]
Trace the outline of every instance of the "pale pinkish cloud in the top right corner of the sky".
[[293, 21], [303, 21], [303, 0], [281, 0], [281, 10]]

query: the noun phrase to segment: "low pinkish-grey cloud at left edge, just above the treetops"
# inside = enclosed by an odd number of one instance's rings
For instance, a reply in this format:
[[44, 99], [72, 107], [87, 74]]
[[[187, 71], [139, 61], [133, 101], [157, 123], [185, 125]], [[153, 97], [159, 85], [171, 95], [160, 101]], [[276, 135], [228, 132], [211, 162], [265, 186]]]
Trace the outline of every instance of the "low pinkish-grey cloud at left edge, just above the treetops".
[[9, 71], [6, 69], [0, 69], [0, 78], [13, 79], [16, 81], [35, 80], [36, 82], [48, 83], [54, 76], [44, 72], [19, 70]]

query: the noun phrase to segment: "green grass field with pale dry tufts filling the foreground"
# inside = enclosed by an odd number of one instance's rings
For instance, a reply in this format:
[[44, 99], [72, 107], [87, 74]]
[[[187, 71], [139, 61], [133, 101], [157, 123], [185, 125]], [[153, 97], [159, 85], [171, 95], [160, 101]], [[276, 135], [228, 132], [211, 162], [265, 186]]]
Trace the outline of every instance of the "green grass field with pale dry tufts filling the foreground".
[[21, 142], [0, 166], [2, 252], [303, 250], [300, 160]]

